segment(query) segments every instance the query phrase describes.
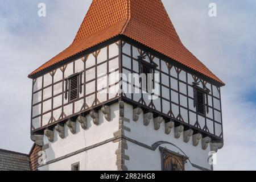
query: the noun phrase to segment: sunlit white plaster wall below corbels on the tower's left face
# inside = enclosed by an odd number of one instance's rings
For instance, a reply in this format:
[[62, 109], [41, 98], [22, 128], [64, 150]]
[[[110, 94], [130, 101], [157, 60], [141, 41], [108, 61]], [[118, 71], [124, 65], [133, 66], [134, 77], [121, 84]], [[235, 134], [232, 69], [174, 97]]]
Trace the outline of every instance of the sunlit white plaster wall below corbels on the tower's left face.
[[[79, 122], [76, 122], [76, 134], [72, 134], [69, 131], [67, 125], [65, 125], [65, 138], [61, 139], [54, 129], [54, 141], [51, 143], [48, 141], [48, 138], [44, 135], [44, 144], [49, 144], [49, 148], [46, 150], [47, 159], [46, 162], [50, 160], [59, 158], [61, 156], [70, 154], [77, 150], [81, 150], [82, 148], [92, 146], [94, 144], [103, 142], [105, 140], [111, 139], [114, 137], [113, 133], [118, 131], [119, 129], [119, 104], [113, 104], [110, 106], [111, 109], [111, 120], [106, 121], [104, 118], [104, 114], [101, 110], [99, 110], [100, 115], [100, 125], [94, 125], [92, 118], [90, 115], [86, 115], [88, 121], [88, 129], [84, 130], [81, 128]], [[104, 169], [104, 170], [113, 170], [113, 163], [116, 162], [115, 150], [118, 148], [118, 144], [114, 145], [112, 142], [109, 144], [104, 144], [101, 146], [101, 149], [92, 149], [88, 151], [86, 154], [89, 161], [88, 168], [90, 169]], [[70, 169], [71, 164], [79, 162], [77, 161], [81, 154], [73, 156], [72, 158], [65, 159], [61, 162], [49, 164], [47, 168], [50, 170], [68, 170]], [[85, 155], [85, 154], [84, 154]], [[111, 159], [111, 160], [110, 160]], [[81, 158], [81, 160], [84, 160]], [[102, 160], [102, 163], [101, 163]], [[71, 164], [70, 164], [71, 163]], [[63, 164], [63, 165], [60, 165]], [[84, 165], [84, 164], [82, 164]], [[67, 168], [67, 167], [68, 168]], [[97, 168], [98, 167], [98, 168]], [[116, 167], [116, 166], [115, 166]], [[43, 170], [47, 169], [46, 167], [42, 167]], [[115, 168], [116, 170], [117, 168]]]

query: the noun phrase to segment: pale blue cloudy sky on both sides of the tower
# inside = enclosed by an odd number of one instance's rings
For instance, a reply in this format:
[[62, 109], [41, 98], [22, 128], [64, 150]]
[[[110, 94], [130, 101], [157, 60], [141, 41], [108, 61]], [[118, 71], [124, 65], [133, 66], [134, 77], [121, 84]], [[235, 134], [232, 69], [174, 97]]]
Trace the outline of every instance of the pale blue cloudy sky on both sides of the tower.
[[[39, 18], [38, 3], [47, 16]], [[0, 148], [28, 152], [28, 73], [69, 46], [88, 0], [0, 0]], [[217, 17], [208, 16], [209, 3]], [[222, 88], [225, 146], [215, 169], [256, 169], [256, 2], [163, 0], [181, 41], [226, 86]]]

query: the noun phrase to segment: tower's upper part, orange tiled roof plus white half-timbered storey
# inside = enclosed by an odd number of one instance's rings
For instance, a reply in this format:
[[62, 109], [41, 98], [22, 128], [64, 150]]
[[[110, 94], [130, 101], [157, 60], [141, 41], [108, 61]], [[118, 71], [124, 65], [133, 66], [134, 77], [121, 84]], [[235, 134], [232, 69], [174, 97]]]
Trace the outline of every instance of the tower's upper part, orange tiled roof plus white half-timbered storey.
[[223, 138], [224, 83], [183, 46], [160, 0], [94, 0], [71, 46], [28, 77], [32, 133], [122, 99]]

